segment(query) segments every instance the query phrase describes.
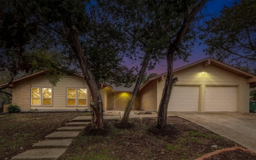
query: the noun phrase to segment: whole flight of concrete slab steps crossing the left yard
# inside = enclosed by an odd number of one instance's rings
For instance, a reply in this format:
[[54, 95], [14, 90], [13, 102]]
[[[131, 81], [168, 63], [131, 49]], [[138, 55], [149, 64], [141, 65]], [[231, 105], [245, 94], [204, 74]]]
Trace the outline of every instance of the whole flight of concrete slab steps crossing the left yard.
[[91, 117], [74, 118], [64, 127], [57, 128], [57, 132], [45, 136], [45, 140], [32, 145], [34, 149], [18, 154], [11, 160], [57, 160], [91, 120]]

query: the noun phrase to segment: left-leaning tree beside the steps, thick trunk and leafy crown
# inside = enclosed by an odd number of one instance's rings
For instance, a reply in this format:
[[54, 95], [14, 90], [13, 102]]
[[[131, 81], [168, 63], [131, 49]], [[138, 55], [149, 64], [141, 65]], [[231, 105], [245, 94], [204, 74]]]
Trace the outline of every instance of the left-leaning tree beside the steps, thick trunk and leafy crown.
[[[44, 1], [39, 2], [44, 26], [62, 36], [68, 42], [70, 56], [75, 57], [92, 95], [90, 104], [92, 128], [103, 128], [103, 105], [99, 91], [99, 80], [110, 83], [131, 79], [132, 70], [120, 65], [124, 52], [125, 38], [121, 22], [96, 5], [87, 1]], [[56, 14], [52, 14], [56, 13]], [[118, 62], [119, 61], [119, 62]], [[121, 72], [126, 70], [126, 72]], [[122, 73], [120, 75], [116, 75]], [[123, 76], [125, 75], [125, 76]]]

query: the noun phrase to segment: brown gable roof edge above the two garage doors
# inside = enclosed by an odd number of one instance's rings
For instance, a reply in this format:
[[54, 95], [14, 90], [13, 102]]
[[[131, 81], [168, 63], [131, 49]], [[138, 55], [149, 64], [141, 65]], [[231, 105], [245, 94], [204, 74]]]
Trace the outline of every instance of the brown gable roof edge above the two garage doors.
[[[234, 73], [234, 74], [237, 74], [239, 76], [242, 76], [244, 78], [246, 78], [246, 82], [247, 83], [250, 83], [250, 84], [256, 84], [256, 75], [254, 74], [251, 74], [251, 73], [248, 73], [248, 72], [245, 72], [239, 68], [236, 68], [236, 67], [233, 67], [229, 64], [226, 64], [224, 62], [220, 62], [218, 60], [215, 60], [214, 58], [205, 58], [205, 59], [202, 59], [202, 60], [199, 60], [199, 61], [196, 61], [194, 63], [191, 63], [191, 64], [188, 64], [188, 65], [185, 65], [185, 66], [182, 66], [180, 68], [176, 68], [175, 70], [173, 70], [173, 72], [177, 72], [179, 70], [183, 70], [185, 68], [188, 68], [188, 67], [191, 67], [191, 66], [194, 66], [196, 64], [200, 64], [202, 63], [202, 65], [205, 67], [205, 66], [208, 66], [208, 65], [214, 65], [214, 66], [217, 66], [219, 68], [222, 68], [224, 70], [227, 70], [228, 72], [231, 72], [231, 73]], [[162, 78], [162, 80], [164, 80], [164, 76], [167, 75], [167, 72], [163, 73], [163, 74], [160, 74], [160, 75], [157, 75], [157, 76], [154, 76], [154, 77], [151, 77], [149, 78], [141, 87], [140, 87], [140, 90], [142, 88], [144, 88], [144, 86], [146, 86], [148, 83], [150, 83], [152, 80], [155, 80], [157, 78]]]

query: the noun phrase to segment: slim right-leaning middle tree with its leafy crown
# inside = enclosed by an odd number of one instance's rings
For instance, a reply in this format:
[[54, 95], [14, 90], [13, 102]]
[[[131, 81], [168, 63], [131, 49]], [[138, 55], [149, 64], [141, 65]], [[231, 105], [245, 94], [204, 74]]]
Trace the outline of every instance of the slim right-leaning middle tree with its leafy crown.
[[128, 43], [131, 46], [130, 52], [127, 54], [128, 58], [142, 61], [136, 84], [121, 121], [121, 124], [124, 125], [128, 122], [129, 113], [138, 94], [146, 68], [154, 68], [156, 62], [163, 58], [162, 52], [166, 48], [166, 41], [160, 40], [163, 32], [160, 29], [159, 20], [151, 19], [151, 17], [154, 17], [154, 12], [152, 12], [152, 9], [148, 9], [154, 8], [157, 10], [157, 6], [153, 6], [151, 2], [117, 1], [114, 3], [106, 2], [105, 6], [108, 6], [108, 10], [114, 12], [114, 16], [118, 16], [119, 20], [125, 24], [124, 30], [128, 34]]

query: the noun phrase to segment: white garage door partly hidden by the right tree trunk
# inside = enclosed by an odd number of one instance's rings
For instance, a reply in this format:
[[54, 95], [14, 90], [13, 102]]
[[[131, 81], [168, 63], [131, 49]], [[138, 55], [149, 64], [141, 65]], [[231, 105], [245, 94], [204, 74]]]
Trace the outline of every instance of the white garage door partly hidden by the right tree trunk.
[[168, 111], [198, 111], [199, 86], [173, 86]]

